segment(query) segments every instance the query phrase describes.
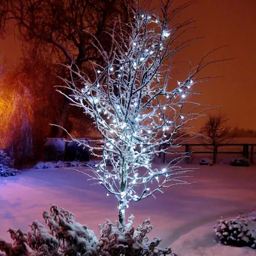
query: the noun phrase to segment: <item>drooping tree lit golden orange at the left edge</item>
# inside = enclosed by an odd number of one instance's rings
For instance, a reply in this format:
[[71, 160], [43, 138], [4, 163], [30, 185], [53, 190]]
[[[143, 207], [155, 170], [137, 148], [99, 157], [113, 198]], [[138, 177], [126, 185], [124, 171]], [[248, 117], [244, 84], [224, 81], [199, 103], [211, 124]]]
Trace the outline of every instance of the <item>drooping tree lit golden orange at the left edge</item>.
[[33, 98], [12, 70], [0, 79], [0, 148], [21, 165], [33, 154]]

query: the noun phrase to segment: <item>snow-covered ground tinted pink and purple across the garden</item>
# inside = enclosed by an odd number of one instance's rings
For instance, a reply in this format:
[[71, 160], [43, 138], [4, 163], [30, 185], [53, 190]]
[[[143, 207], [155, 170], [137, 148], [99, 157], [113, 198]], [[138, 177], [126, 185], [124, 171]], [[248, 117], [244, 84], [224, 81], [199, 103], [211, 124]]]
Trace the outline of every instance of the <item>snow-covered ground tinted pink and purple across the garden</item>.
[[[199, 167], [198, 165], [193, 167]], [[182, 256], [252, 256], [255, 250], [217, 244], [212, 226], [216, 220], [256, 210], [256, 166], [200, 166], [195, 184], [175, 186], [157, 199], [147, 198], [129, 207], [135, 227], [150, 216], [155, 226], [151, 238], [161, 237]], [[51, 202], [71, 210], [76, 219], [97, 234], [105, 218], [117, 219], [115, 198], [100, 185], [90, 186], [85, 175], [68, 168], [24, 170], [0, 179], [0, 237], [10, 241], [9, 227], [28, 230], [33, 220], [43, 222], [42, 211]]]

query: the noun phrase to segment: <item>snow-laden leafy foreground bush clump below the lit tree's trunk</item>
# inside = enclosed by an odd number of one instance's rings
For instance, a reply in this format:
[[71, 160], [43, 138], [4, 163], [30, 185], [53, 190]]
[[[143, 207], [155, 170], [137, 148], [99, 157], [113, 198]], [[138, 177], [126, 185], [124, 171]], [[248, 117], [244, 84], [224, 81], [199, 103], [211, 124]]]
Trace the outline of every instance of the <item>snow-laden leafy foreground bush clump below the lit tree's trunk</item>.
[[72, 212], [51, 205], [50, 212], [43, 217], [48, 228], [33, 221], [27, 233], [10, 228], [13, 244], [0, 239], [0, 251], [7, 256], [28, 255], [90, 255], [90, 256], [139, 256], [172, 255], [171, 248], [157, 248], [161, 239], [148, 242], [147, 234], [152, 230], [150, 220], [145, 220], [136, 230], [132, 227], [134, 216], [123, 226], [119, 221], [107, 220], [99, 225], [100, 239], [86, 225], [75, 220]]

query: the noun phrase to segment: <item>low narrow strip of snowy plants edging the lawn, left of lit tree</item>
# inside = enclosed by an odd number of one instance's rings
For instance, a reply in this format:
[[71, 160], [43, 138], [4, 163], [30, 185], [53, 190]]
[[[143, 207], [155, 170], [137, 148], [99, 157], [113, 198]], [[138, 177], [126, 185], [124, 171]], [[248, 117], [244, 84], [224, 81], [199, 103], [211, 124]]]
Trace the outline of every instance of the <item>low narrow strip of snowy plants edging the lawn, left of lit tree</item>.
[[65, 167], [81, 167], [90, 166], [95, 167], [99, 161], [77, 162], [77, 161], [51, 161], [51, 162], [38, 162], [34, 166], [35, 169], [51, 169], [51, 168], [65, 168]]

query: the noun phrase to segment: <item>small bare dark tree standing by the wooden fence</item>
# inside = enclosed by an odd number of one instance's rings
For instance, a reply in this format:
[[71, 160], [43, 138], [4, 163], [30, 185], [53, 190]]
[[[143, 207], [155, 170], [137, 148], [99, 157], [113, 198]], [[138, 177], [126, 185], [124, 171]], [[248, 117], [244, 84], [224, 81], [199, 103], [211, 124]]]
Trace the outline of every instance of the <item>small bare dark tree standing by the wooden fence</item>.
[[[205, 124], [200, 129], [200, 133], [204, 135], [200, 138], [202, 143], [205, 144], [205, 147], [213, 151], [213, 163], [216, 163], [218, 145], [221, 143], [230, 143], [234, 138], [234, 134], [230, 131], [227, 121], [227, 115], [224, 113], [209, 113]], [[212, 146], [209, 146], [209, 144]]]

